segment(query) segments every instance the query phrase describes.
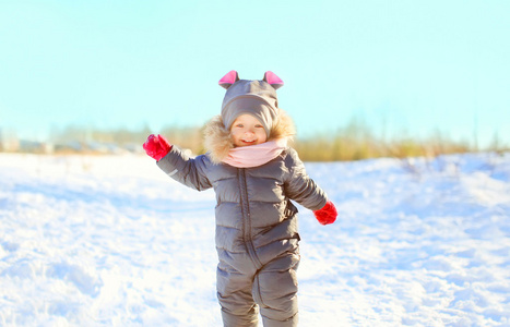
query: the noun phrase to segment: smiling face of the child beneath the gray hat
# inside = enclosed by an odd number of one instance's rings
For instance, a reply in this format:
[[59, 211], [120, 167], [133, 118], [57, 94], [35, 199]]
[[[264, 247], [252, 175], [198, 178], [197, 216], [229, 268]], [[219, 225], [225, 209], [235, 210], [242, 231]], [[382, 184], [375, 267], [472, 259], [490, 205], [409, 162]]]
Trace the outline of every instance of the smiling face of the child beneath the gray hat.
[[260, 121], [251, 114], [239, 116], [230, 128], [230, 135], [235, 146], [257, 145], [268, 138]]

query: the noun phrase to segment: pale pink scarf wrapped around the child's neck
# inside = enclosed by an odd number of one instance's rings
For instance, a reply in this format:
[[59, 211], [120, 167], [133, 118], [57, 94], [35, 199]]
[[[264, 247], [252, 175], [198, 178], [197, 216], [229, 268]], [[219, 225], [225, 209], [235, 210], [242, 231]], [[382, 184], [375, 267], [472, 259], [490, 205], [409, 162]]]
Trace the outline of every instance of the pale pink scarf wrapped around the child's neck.
[[278, 138], [257, 145], [232, 148], [223, 162], [237, 168], [262, 166], [277, 156], [287, 147], [286, 138]]

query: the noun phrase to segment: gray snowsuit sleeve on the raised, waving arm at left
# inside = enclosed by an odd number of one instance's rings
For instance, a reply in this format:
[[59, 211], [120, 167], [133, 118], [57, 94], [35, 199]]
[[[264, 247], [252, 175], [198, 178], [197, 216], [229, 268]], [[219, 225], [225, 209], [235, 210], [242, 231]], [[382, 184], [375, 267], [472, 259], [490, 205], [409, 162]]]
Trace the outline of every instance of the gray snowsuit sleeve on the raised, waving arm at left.
[[206, 175], [210, 161], [205, 155], [190, 158], [174, 145], [156, 164], [170, 178], [191, 189], [204, 191], [212, 187]]

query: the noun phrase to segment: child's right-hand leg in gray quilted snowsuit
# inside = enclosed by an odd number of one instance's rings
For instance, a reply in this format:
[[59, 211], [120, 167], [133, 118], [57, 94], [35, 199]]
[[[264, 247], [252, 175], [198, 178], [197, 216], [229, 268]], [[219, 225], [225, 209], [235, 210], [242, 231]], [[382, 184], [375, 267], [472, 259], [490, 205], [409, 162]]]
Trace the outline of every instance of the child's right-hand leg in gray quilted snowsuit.
[[256, 275], [253, 299], [260, 305], [264, 327], [297, 326], [297, 277], [299, 255], [288, 253]]

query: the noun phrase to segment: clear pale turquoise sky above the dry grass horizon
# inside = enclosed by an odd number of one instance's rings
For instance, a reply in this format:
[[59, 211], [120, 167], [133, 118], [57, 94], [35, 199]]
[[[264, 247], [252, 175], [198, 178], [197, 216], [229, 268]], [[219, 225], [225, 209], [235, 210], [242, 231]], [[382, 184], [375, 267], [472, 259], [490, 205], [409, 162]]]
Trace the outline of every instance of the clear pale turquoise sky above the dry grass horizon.
[[301, 136], [510, 143], [510, 1], [0, 0], [0, 128], [202, 125], [237, 70], [285, 82]]

